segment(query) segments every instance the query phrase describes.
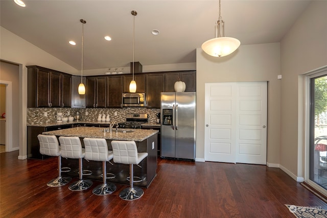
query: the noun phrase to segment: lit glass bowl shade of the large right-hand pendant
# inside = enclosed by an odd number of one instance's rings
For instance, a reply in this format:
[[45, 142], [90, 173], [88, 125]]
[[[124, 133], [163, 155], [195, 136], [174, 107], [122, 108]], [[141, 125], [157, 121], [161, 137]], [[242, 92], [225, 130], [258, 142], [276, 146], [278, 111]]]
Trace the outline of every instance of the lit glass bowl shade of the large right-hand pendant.
[[239, 48], [240, 40], [232, 37], [217, 37], [203, 42], [201, 48], [208, 55], [223, 57]]

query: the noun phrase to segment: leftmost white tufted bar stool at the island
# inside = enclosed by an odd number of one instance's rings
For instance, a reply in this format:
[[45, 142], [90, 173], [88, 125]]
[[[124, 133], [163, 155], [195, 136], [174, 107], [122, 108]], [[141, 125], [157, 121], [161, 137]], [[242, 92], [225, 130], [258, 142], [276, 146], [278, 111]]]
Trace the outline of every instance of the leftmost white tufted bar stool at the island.
[[40, 142], [40, 153], [42, 155], [58, 157], [58, 177], [49, 181], [46, 185], [50, 187], [59, 187], [71, 182], [71, 177], [61, 177], [61, 152], [56, 136], [38, 135]]

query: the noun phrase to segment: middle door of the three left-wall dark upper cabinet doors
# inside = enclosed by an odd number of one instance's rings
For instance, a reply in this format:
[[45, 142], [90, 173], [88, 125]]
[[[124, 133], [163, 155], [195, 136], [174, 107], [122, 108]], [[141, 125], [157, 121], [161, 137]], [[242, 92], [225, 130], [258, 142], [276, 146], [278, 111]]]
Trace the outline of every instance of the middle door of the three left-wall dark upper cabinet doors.
[[60, 73], [51, 72], [50, 73], [50, 106], [51, 107], [60, 107]]

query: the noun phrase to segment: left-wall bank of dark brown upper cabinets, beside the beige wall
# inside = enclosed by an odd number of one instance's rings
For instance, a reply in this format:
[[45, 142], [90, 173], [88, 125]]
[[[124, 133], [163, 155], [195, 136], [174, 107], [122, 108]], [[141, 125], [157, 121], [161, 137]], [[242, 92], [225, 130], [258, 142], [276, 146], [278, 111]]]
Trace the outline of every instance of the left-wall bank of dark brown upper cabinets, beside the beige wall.
[[[27, 66], [27, 69], [28, 107], [71, 106], [69, 103], [71, 102], [71, 80], [68, 79], [71, 75], [39, 66]], [[67, 87], [69, 92], [66, 90]], [[64, 105], [65, 102], [68, 102], [67, 105]]]

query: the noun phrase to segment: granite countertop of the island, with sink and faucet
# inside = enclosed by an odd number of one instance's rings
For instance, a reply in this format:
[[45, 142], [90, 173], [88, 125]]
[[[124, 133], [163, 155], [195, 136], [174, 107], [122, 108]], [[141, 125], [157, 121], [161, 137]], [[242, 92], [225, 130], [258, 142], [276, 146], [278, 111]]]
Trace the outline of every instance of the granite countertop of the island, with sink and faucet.
[[[54, 130], [49, 132], [43, 132], [43, 135], [54, 135], [54, 136], [73, 136], [81, 138], [103, 138], [111, 140], [126, 140], [126, 141], [144, 141], [145, 139], [158, 133], [158, 130], [150, 129], [118, 129], [119, 132], [116, 133], [116, 130], [112, 130], [112, 134], [109, 132], [104, 132], [103, 127], [74, 127], [67, 129]], [[106, 128], [108, 129], [108, 128]], [[127, 131], [124, 133], [123, 131]], [[128, 132], [132, 131], [132, 132]]]

